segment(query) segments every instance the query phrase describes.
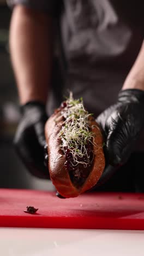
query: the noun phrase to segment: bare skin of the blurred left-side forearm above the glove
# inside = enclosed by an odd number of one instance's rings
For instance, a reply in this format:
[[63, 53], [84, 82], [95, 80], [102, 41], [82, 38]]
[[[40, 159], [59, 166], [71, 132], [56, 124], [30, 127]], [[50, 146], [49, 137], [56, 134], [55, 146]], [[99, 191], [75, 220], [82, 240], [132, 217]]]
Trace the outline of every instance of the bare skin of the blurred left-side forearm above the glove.
[[16, 5], [11, 18], [9, 44], [20, 103], [33, 100], [45, 103], [52, 62], [50, 16]]

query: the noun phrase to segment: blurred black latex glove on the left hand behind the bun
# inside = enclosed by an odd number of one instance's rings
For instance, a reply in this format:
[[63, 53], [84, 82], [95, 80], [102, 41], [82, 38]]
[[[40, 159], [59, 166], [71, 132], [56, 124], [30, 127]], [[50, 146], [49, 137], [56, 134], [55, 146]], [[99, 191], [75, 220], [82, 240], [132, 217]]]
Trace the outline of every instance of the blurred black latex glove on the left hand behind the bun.
[[28, 102], [21, 107], [21, 112], [22, 118], [14, 138], [16, 152], [34, 176], [49, 178], [49, 171], [44, 165], [45, 106], [36, 101]]

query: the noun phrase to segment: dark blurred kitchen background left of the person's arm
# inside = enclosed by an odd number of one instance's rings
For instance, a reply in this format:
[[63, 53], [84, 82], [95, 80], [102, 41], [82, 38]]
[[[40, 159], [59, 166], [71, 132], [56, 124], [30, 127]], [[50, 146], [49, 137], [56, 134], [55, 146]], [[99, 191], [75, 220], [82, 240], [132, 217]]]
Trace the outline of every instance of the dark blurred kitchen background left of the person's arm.
[[53, 190], [50, 181], [28, 173], [13, 147], [20, 113], [8, 46], [10, 18], [11, 10], [0, 0], [0, 188]]

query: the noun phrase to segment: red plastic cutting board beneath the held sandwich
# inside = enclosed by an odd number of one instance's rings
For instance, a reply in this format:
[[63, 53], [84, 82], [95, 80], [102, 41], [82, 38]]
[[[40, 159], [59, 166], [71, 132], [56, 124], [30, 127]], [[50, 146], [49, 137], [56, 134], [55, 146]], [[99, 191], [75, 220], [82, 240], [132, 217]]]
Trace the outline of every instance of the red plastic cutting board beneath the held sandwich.
[[[27, 206], [37, 214], [23, 212]], [[55, 193], [0, 189], [0, 226], [144, 230], [144, 195], [86, 193], [58, 199]]]

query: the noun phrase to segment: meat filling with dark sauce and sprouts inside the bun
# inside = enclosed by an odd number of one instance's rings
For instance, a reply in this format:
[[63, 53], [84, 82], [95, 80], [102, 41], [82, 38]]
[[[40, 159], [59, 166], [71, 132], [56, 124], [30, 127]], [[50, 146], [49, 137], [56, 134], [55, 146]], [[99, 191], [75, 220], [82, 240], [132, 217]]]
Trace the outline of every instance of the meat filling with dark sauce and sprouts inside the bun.
[[89, 176], [94, 160], [94, 135], [88, 126], [88, 117], [91, 114], [88, 114], [83, 107], [82, 100], [73, 100], [73, 97], [62, 102], [58, 110], [63, 121], [59, 138], [61, 150], [65, 154], [64, 165], [69, 172], [71, 182], [79, 188]]

